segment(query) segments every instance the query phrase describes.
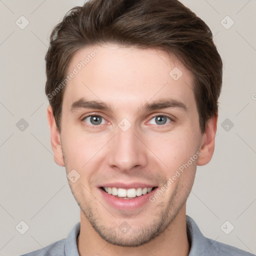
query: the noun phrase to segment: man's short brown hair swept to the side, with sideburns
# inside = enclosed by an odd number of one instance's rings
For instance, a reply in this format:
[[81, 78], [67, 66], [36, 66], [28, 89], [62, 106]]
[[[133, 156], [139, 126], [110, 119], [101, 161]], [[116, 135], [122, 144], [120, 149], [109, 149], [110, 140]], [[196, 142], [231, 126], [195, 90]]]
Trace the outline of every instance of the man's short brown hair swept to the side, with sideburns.
[[194, 97], [204, 132], [207, 120], [217, 114], [222, 61], [209, 27], [178, 0], [90, 0], [65, 14], [51, 32], [45, 56], [45, 93], [59, 131], [65, 86], [56, 88], [66, 76], [70, 59], [77, 50], [102, 43], [161, 48], [175, 54], [194, 75]]

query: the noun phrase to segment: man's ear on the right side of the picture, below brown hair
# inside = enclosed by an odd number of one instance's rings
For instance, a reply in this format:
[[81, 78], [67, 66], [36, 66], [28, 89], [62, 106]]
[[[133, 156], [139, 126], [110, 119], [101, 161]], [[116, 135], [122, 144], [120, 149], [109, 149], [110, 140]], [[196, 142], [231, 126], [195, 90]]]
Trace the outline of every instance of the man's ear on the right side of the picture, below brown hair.
[[197, 158], [197, 165], [204, 165], [208, 163], [213, 155], [215, 134], [217, 129], [218, 115], [212, 116], [206, 123], [205, 131], [202, 134], [200, 152]]

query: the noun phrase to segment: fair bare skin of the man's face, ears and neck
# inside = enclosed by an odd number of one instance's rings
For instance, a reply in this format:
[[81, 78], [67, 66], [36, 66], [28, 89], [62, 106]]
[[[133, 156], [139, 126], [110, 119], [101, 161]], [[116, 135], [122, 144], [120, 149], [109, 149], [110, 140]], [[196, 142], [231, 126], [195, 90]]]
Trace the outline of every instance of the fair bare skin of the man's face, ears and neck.
[[[97, 48], [98, 54], [65, 87], [61, 132], [47, 109], [54, 160], [68, 174], [75, 169], [80, 178], [69, 186], [80, 206], [81, 229], [77, 241], [80, 255], [188, 255], [190, 245], [185, 227], [185, 202], [193, 184], [196, 165], [204, 165], [214, 150], [217, 116], [199, 128], [192, 91], [193, 74], [178, 58], [163, 50], [93, 45], [77, 51], [68, 73]], [[182, 76], [174, 80], [174, 67]], [[101, 100], [111, 111], [78, 108], [71, 104], [83, 97]], [[148, 102], [172, 98], [178, 107], [142, 110]], [[93, 126], [89, 114], [102, 116]], [[164, 115], [163, 124], [155, 116]], [[125, 132], [118, 123], [126, 118]], [[93, 128], [94, 127], [94, 128]], [[163, 186], [180, 165], [200, 151], [200, 156], [154, 202], [144, 208], [122, 210], [110, 206], [97, 186], [102, 182], [147, 182]], [[126, 221], [130, 230], [118, 226]]]

